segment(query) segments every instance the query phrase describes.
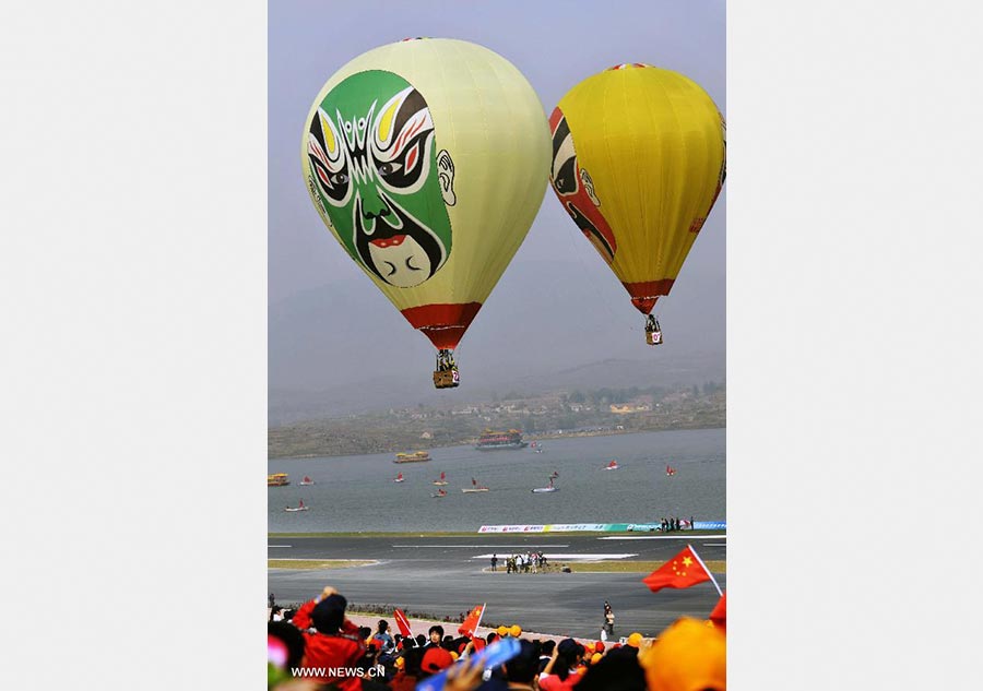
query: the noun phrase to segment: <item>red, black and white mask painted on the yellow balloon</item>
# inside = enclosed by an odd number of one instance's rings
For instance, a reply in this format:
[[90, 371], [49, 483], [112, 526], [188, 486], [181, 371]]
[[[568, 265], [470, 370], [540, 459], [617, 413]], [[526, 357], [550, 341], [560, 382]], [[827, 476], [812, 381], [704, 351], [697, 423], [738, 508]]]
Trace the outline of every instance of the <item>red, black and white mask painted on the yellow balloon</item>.
[[549, 130], [553, 134], [553, 167], [549, 171], [553, 190], [577, 227], [609, 264], [618, 243], [601, 213], [601, 200], [594, 193], [590, 174], [577, 165], [573, 136], [559, 108], [549, 116]]

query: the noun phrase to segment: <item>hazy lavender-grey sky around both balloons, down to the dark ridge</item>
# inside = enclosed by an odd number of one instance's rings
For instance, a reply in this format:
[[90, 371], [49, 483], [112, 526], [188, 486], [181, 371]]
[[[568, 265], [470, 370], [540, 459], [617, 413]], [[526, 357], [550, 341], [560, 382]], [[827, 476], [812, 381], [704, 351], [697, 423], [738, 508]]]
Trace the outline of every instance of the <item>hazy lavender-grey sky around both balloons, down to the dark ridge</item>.
[[[426, 383], [433, 369], [429, 343], [342, 250], [304, 186], [304, 120], [320, 87], [340, 67], [405, 37], [451, 37], [481, 44], [512, 62], [540, 96], [544, 118], [575, 84], [620, 62], [682, 72], [726, 115], [724, 4], [270, 3], [271, 390], [329, 391], [358, 384], [362, 369], [337, 364], [359, 358], [375, 364], [376, 377], [412, 372], [406, 380], [412, 386]], [[550, 366], [572, 368], [609, 358], [672, 360], [692, 352], [715, 354], [715, 370], [722, 371], [725, 215], [726, 186], [672, 296], [662, 298], [656, 309], [666, 344], [647, 349], [640, 345], [642, 320], [624, 288], [547, 188], [524, 243], [460, 346], [465, 383], [490, 384], [502, 371], [524, 376]], [[518, 318], [528, 326], [521, 348], [507, 333]], [[577, 324], [582, 324], [580, 334], [570, 329]]]

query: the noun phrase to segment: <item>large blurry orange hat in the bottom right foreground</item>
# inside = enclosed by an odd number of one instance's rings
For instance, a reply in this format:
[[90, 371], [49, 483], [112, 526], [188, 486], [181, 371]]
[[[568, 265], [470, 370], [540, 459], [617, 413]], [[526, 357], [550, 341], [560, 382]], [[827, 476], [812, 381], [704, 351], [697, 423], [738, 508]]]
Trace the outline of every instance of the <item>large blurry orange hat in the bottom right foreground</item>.
[[719, 629], [684, 617], [639, 655], [649, 691], [726, 691], [727, 640]]

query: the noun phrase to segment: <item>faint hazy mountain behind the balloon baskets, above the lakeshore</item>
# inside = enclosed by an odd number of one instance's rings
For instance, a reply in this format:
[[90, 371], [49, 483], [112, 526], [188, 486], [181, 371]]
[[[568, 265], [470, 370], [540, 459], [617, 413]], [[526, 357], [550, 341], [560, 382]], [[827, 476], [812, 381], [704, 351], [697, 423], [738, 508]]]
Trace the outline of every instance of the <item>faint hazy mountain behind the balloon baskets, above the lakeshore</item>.
[[458, 350], [462, 385], [447, 391], [433, 388], [433, 346], [367, 278], [296, 294], [269, 309], [270, 424], [509, 391], [723, 381], [724, 278], [684, 277], [656, 310], [666, 342], [652, 348], [601, 262], [513, 264]]

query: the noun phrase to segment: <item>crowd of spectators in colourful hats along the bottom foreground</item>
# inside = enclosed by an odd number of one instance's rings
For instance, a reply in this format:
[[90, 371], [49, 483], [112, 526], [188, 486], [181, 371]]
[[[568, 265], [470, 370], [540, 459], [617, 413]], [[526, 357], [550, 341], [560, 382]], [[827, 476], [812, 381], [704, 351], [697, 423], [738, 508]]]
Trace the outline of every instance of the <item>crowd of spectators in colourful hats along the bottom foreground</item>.
[[[613, 642], [522, 636], [518, 626], [469, 636], [431, 626], [427, 635], [376, 630], [345, 616], [347, 600], [333, 587], [296, 610], [281, 610], [268, 629], [271, 691], [413, 691], [434, 679], [445, 691], [724, 691], [725, 622], [683, 618], [654, 639], [632, 633]], [[519, 652], [484, 668], [485, 646], [518, 638]]]

